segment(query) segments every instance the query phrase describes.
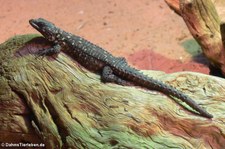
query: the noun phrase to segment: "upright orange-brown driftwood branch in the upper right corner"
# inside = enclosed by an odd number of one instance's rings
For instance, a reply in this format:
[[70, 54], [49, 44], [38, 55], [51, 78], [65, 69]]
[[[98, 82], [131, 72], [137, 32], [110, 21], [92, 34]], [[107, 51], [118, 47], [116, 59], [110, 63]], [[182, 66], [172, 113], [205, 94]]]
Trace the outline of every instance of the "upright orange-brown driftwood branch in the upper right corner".
[[210, 61], [211, 70], [217, 70], [225, 77], [225, 24], [221, 22], [212, 0], [165, 1], [184, 19]]

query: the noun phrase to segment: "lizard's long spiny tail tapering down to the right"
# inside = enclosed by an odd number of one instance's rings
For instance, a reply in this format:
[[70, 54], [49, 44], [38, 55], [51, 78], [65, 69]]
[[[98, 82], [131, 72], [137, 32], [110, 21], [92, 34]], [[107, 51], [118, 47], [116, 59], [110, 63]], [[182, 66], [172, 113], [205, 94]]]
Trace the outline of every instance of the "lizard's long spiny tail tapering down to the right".
[[184, 93], [175, 89], [174, 87], [167, 85], [161, 81], [155, 80], [151, 77], [147, 77], [140, 72], [137, 72], [137, 74], [134, 77], [136, 80], [135, 82], [138, 82], [141, 86], [149, 88], [149, 89], [154, 89], [154, 90], [160, 91], [166, 95], [170, 95], [170, 96], [179, 98], [183, 102], [188, 104], [191, 108], [196, 110], [201, 116], [204, 116], [207, 118], [213, 118], [213, 115], [211, 115], [206, 110], [204, 110], [202, 107], [200, 107], [189, 96], [185, 95]]

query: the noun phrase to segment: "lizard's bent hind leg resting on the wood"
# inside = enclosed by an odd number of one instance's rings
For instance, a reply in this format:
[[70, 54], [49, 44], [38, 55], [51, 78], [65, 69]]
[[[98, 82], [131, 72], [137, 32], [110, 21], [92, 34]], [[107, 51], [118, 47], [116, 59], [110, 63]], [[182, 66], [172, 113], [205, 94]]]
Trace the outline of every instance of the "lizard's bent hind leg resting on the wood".
[[103, 82], [114, 82], [120, 85], [127, 85], [128, 82], [113, 74], [113, 70], [109, 66], [105, 66], [102, 70], [101, 79]]

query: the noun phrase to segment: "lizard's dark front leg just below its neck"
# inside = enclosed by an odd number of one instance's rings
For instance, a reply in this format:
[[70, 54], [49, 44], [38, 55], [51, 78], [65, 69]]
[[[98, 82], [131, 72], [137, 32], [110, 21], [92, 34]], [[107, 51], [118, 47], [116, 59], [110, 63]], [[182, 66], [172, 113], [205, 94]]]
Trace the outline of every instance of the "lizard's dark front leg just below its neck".
[[61, 51], [61, 48], [62, 47], [59, 44], [56, 44], [53, 47], [38, 51], [36, 54], [37, 54], [37, 57], [52, 56], [52, 55], [58, 54]]

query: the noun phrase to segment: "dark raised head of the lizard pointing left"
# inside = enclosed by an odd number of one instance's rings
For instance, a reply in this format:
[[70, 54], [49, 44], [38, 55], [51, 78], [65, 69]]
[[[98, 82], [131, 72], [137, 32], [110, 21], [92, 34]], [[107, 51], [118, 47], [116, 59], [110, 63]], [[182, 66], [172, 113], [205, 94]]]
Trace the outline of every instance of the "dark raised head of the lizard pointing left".
[[42, 18], [31, 19], [29, 23], [49, 41], [54, 41], [56, 39], [59, 29], [53, 23]]

